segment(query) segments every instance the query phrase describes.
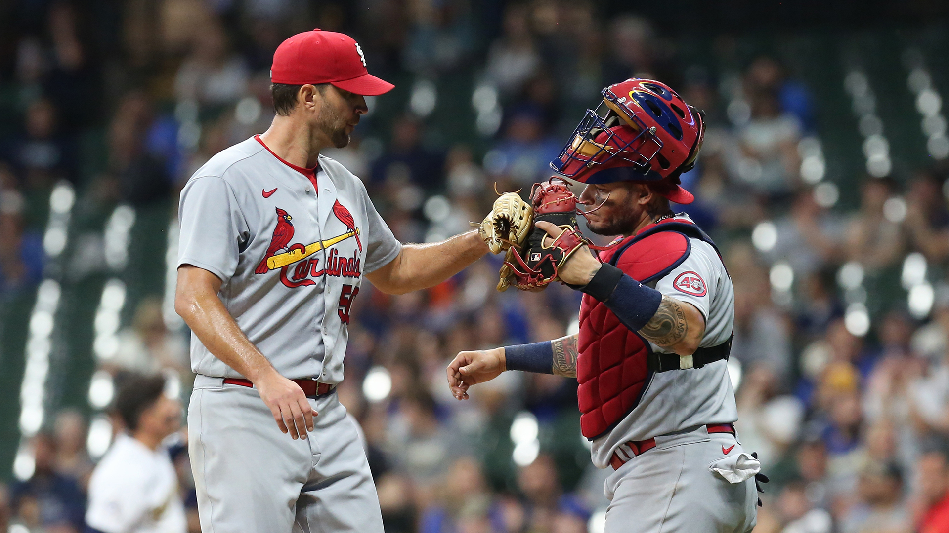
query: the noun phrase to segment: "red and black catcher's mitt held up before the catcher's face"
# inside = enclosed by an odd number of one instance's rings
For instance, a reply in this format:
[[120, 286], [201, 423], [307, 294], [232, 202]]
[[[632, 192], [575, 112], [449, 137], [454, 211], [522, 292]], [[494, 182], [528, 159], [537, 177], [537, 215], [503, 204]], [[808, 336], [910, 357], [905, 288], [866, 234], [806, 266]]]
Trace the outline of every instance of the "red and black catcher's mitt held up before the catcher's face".
[[577, 229], [577, 197], [570, 193], [567, 182], [551, 178], [547, 183], [535, 183], [530, 200], [534, 222], [547, 221], [564, 232], [553, 239], [547, 231], [533, 228], [523, 246], [509, 248], [499, 272], [497, 290], [505, 291], [510, 285], [530, 290], [560, 281], [560, 267], [573, 252], [588, 244]]

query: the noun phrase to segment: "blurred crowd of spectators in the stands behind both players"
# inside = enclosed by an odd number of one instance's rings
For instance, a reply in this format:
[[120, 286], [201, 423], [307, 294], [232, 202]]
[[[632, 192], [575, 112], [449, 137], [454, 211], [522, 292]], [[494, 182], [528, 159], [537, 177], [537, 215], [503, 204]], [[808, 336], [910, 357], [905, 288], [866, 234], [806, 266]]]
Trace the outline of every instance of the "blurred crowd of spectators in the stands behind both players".
[[[649, 20], [605, 17], [586, 1], [17, 3], [0, 54], [0, 298], [34, 290], [47, 271], [56, 183], [73, 185], [78, 210], [158, 206], [174, 218], [196, 168], [267, 128], [272, 51], [314, 26], [353, 35], [370, 71], [397, 84], [367, 99], [350, 146], [326, 155], [363, 179], [403, 242], [468, 230], [495, 188], [546, 178], [606, 84], [639, 76], [679, 88], [710, 127], [683, 176], [697, 201], [677, 209], [713, 235], [733, 278], [736, 427], [772, 478], [755, 531], [949, 531], [945, 160], [802, 177], [820, 146], [821, 102], [785, 65], [762, 55], [718, 76], [685, 62], [676, 36]], [[859, 186], [827, 187], [837, 178]], [[75, 253], [102, 261], [98, 246]], [[362, 425], [386, 531], [602, 527], [608, 472], [589, 463], [575, 381], [510, 373], [467, 402], [449, 394], [444, 369], [458, 351], [577, 327], [578, 293], [498, 293], [498, 267], [488, 257], [401, 296], [366, 284], [353, 306], [338, 391]], [[131, 303], [98, 370], [117, 383], [163, 372], [187, 402], [188, 332], [166, 322], [161, 297]], [[86, 450], [88, 414], [64, 410], [31, 437], [27, 479], [3, 473], [3, 530], [83, 531], [98, 459]], [[173, 451], [197, 531], [187, 450]]]

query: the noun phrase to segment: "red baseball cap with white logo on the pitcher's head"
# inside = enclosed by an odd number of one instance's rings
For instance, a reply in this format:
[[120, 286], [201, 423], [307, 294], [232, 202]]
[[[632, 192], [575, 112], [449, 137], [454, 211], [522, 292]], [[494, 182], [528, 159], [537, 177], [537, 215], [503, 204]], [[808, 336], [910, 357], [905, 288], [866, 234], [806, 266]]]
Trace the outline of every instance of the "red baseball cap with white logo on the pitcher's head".
[[352, 37], [320, 28], [297, 33], [277, 46], [270, 83], [332, 83], [363, 96], [381, 95], [395, 87], [369, 74], [363, 49]]

